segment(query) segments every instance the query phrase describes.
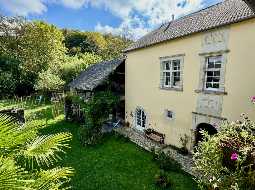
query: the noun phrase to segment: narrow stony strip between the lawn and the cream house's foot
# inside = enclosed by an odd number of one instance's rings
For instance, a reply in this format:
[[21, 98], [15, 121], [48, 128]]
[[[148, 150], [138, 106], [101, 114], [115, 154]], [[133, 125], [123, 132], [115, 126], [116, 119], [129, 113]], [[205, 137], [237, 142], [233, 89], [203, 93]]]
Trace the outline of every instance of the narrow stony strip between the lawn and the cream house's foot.
[[193, 167], [193, 161], [191, 155], [184, 156], [180, 153], [178, 153], [177, 150], [174, 150], [173, 148], [167, 146], [167, 145], [161, 145], [160, 143], [154, 142], [150, 139], [148, 139], [143, 132], [132, 129], [130, 127], [121, 127], [114, 129], [117, 133], [128, 137], [132, 142], [136, 143], [138, 146], [151, 151], [154, 150], [162, 150], [166, 154], [168, 154], [172, 159], [176, 160], [178, 163], [182, 165], [182, 169], [193, 175], [198, 176], [194, 171], [192, 170]]

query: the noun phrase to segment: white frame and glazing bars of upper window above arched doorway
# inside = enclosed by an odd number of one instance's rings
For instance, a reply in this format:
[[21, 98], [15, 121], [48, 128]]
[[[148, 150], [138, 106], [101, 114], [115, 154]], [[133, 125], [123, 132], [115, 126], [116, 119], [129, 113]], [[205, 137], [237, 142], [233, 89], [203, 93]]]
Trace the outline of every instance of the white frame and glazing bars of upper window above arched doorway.
[[[218, 58], [218, 57], [221, 57], [221, 62], [220, 63], [218, 63], [218, 62], [216, 62], [216, 58]], [[216, 64], [218, 64], [218, 65], [220, 65], [220, 68], [209, 68], [209, 59], [210, 58], [214, 58], [214, 62], [213, 62], [213, 64], [214, 64], [214, 66], [216, 65]], [[204, 71], [204, 89], [205, 90], [209, 90], [209, 91], [221, 91], [221, 88], [220, 88], [220, 86], [221, 86], [221, 79], [222, 79], [222, 75], [224, 74], [224, 73], [222, 73], [222, 67], [223, 67], [223, 55], [212, 55], [212, 56], [207, 56], [207, 57], [205, 57], [205, 71]], [[208, 75], [207, 75], [207, 72], [220, 72], [220, 75], [219, 75], [219, 82], [208, 82], [207, 80], [208, 80]], [[211, 78], [216, 78], [216, 76], [211, 76]], [[213, 87], [207, 87], [207, 84], [208, 83], [211, 83], [212, 84], [212, 86], [214, 85], [214, 84], [218, 84], [219, 85], [219, 87], [218, 88], [213, 88]]]

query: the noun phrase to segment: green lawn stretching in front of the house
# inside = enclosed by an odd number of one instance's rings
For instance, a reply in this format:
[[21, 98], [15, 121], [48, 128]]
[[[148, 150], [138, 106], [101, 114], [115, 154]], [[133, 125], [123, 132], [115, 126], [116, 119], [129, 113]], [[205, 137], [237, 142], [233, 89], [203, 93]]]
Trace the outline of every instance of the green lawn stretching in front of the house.
[[[0, 103], [0, 109], [6, 103]], [[8, 105], [9, 107], [15, 107]], [[24, 106], [26, 117], [40, 113], [51, 105]], [[30, 109], [31, 108], [31, 109]], [[78, 128], [64, 121], [64, 116], [48, 118], [47, 127], [42, 134], [69, 131], [73, 134], [71, 148], [59, 163], [72, 166], [75, 175], [71, 180], [72, 189], [77, 190], [155, 190], [154, 176], [159, 168], [153, 155], [127, 139], [115, 134], [104, 137], [103, 142], [93, 147], [82, 147], [79, 142]], [[44, 114], [43, 114], [44, 116]], [[174, 190], [194, 190], [196, 183], [184, 172], [170, 172]]]

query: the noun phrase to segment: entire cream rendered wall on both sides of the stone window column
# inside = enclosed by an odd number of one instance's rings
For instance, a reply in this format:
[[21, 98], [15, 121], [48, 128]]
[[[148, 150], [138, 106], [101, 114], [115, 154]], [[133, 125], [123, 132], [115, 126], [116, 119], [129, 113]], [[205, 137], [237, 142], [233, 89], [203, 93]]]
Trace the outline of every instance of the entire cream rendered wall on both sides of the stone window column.
[[[147, 114], [147, 127], [166, 135], [166, 143], [181, 146], [180, 136], [193, 136], [192, 111], [196, 110], [195, 90], [199, 84], [203, 33], [129, 52], [126, 60], [126, 121], [132, 127], [135, 109]], [[226, 66], [226, 91], [223, 117], [238, 119], [241, 112], [255, 115], [249, 98], [255, 95], [255, 19], [230, 27], [230, 53]], [[160, 89], [160, 57], [185, 54], [183, 91]], [[165, 109], [174, 111], [175, 119], [165, 117]], [[255, 120], [255, 118], [253, 117]]]

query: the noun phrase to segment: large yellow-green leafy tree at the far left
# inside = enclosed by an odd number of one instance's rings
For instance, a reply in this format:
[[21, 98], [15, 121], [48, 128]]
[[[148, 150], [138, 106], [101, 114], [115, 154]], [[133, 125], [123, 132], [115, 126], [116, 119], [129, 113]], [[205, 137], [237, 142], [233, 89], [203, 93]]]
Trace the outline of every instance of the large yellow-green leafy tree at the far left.
[[[20, 17], [0, 19], [7, 20], [0, 23], [0, 28], [6, 27], [0, 38], [0, 54], [8, 57], [10, 64], [5, 64], [8, 70], [15, 66], [19, 71], [18, 77], [11, 72], [13, 79], [18, 81], [14, 83], [16, 93], [30, 94], [40, 72], [61, 64], [66, 51], [63, 35], [55, 26], [44, 22], [26, 22]], [[16, 63], [19, 63], [18, 67]], [[13, 92], [12, 86], [10, 91]]]

